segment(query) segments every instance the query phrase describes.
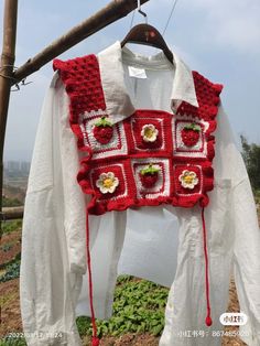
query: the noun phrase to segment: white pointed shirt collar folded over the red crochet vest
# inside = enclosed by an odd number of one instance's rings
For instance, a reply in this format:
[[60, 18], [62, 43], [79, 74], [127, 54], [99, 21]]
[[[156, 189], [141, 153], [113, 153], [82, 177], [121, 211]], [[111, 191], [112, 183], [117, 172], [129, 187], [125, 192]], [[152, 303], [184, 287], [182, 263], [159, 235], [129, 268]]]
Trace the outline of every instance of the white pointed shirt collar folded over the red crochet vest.
[[[131, 116], [136, 109], [127, 91], [123, 78], [122, 50], [119, 41], [98, 54], [101, 84], [107, 112], [113, 122]], [[163, 53], [162, 53], [163, 54]], [[198, 107], [191, 69], [173, 52], [175, 74], [171, 94], [171, 105], [186, 101]]]

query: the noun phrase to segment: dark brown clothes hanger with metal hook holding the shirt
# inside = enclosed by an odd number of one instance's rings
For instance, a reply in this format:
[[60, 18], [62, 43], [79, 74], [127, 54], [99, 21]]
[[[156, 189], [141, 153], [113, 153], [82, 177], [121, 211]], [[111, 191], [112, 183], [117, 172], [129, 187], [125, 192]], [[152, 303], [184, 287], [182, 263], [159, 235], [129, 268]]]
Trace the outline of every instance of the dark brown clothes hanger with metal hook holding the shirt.
[[166, 42], [160, 32], [154, 26], [148, 24], [148, 15], [141, 10], [140, 0], [138, 0], [138, 12], [145, 18], [145, 24], [134, 25], [122, 40], [121, 47], [123, 47], [127, 43], [151, 45], [155, 48], [162, 50], [166, 58], [173, 64], [173, 53], [166, 45]]

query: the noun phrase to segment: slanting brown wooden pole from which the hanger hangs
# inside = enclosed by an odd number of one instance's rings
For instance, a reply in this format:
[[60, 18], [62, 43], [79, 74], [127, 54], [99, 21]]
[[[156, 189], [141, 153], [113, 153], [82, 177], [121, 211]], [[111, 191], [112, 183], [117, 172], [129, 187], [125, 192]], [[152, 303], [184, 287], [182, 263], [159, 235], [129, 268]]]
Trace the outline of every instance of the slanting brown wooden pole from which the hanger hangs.
[[[141, 4], [148, 1], [149, 0], [141, 0]], [[100, 29], [116, 22], [120, 18], [126, 17], [137, 7], [138, 1], [134, 0], [111, 1], [96, 14], [88, 18], [79, 25], [73, 28], [66, 34], [51, 43], [33, 58], [30, 58], [25, 64], [15, 71], [13, 77], [17, 79], [17, 82], [24, 79], [35, 71], [39, 71], [46, 63], [51, 62], [54, 57], [98, 32]], [[15, 84], [15, 82], [13, 82], [13, 84]]]

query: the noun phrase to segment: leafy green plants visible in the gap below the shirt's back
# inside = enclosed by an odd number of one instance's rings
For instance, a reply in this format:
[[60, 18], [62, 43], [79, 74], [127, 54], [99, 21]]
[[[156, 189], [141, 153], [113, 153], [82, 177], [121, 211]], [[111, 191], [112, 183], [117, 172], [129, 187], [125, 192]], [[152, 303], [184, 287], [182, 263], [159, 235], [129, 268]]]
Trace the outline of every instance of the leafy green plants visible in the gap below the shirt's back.
[[[169, 290], [155, 283], [128, 275], [118, 278], [113, 314], [110, 320], [97, 321], [98, 336], [127, 333], [160, 335], [164, 326], [164, 310]], [[80, 336], [91, 335], [90, 318], [77, 318]]]

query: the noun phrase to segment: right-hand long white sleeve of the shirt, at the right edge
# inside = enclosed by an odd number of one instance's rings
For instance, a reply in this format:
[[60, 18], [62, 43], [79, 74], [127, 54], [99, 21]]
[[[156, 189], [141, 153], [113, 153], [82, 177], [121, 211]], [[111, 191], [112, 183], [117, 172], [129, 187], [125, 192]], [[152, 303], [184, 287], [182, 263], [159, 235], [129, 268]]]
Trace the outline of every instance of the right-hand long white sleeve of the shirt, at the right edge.
[[216, 175], [231, 180], [231, 220], [234, 233], [234, 277], [240, 305], [248, 321], [240, 326], [240, 338], [260, 345], [260, 231], [249, 177], [235, 143], [228, 118], [220, 107], [221, 138]]

